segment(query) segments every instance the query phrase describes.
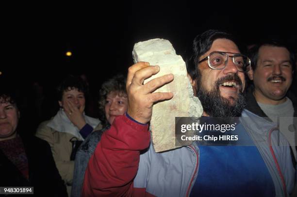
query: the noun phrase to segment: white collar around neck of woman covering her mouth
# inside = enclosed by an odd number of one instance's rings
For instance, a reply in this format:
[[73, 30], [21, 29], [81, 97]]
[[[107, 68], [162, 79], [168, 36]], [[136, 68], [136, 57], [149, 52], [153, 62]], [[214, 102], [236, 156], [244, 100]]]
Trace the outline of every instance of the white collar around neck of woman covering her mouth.
[[[95, 128], [100, 121], [96, 118], [89, 117], [83, 113], [84, 120], [87, 124]], [[58, 132], [66, 132], [76, 136], [79, 140], [83, 140], [80, 130], [69, 120], [64, 110], [60, 109], [53, 119], [47, 124], [48, 127]]]

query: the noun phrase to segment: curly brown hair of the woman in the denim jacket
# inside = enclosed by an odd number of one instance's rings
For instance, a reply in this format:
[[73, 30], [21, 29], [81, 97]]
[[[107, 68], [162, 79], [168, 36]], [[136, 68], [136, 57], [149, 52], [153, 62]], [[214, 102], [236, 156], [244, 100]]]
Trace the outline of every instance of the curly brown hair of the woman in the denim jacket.
[[106, 98], [113, 91], [118, 92], [119, 96], [127, 97], [126, 78], [122, 74], [117, 74], [113, 78], [103, 82], [99, 90], [99, 118], [103, 126], [108, 124], [104, 110]]

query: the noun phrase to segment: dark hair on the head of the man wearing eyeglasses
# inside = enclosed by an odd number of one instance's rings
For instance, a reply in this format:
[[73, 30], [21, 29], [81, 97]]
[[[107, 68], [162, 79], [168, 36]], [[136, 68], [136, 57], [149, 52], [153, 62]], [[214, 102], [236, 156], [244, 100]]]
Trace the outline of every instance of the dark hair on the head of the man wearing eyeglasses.
[[187, 72], [194, 80], [198, 77], [198, 62], [199, 58], [205, 54], [213, 45], [214, 40], [223, 38], [233, 41], [239, 49], [243, 49], [238, 45], [236, 38], [230, 33], [221, 32], [218, 30], [207, 30], [200, 35], [197, 35], [191, 45], [188, 45], [185, 51], [185, 62]]

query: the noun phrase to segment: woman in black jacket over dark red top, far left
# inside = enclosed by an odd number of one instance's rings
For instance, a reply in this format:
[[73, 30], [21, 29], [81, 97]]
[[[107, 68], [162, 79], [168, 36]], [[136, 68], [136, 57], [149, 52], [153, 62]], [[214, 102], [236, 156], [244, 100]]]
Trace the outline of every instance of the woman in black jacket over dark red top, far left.
[[17, 104], [14, 93], [0, 90], [0, 186], [34, 187], [37, 196], [66, 197], [49, 144], [19, 127]]

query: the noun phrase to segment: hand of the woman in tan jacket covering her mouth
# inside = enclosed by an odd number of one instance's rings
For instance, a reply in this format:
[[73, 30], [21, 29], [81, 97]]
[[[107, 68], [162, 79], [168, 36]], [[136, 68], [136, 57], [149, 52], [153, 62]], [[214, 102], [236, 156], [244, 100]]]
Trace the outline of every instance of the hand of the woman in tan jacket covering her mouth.
[[72, 103], [70, 100], [66, 100], [64, 103], [64, 111], [69, 118], [69, 120], [79, 129], [81, 130], [82, 127], [86, 124], [85, 119], [83, 117], [84, 112], [84, 105], [78, 109], [74, 103]]

